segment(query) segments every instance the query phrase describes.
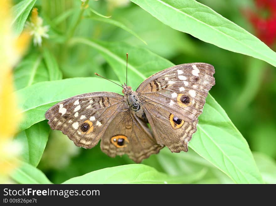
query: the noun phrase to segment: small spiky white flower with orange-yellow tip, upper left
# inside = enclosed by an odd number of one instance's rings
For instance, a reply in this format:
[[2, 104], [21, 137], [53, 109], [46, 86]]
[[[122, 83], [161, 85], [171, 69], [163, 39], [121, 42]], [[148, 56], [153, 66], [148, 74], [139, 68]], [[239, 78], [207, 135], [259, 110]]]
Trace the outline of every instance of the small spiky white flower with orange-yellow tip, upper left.
[[43, 19], [38, 16], [37, 8], [33, 8], [30, 21], [26, 21], [25, 28], [34, 36], [34, 45], [41, 46], [42, 37], [49, 38], [49, 25], [43, 26]]

